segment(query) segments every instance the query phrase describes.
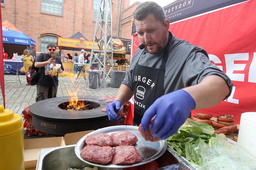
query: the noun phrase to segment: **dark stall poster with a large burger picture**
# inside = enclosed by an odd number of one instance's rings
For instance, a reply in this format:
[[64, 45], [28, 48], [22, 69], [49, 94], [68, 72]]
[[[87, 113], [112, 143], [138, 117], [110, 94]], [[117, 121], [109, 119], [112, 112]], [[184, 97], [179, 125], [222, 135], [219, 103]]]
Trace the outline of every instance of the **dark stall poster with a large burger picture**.
[[[108, 39], [109, 40], [109, 36]], [[132, 40], [131, 39], [121, 39], [112, 37], [112, 44], [113, 44], [113, 53], [119, 53], [119, 54], [131, 54], [131, 45]]]

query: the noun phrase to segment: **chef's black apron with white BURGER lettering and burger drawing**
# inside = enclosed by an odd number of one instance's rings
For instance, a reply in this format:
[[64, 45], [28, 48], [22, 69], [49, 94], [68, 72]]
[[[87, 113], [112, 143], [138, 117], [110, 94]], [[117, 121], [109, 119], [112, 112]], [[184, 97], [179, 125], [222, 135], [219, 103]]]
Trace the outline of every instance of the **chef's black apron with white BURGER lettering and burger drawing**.
[[[157, 98], [164, 95], [164, 71], [169, 54], [169, 41], [172, 34], [169, 33], [167, 45], [160, 68], [152, 68], [139, 65], [140, 57], [133, 70], [133, 95], [134, 95], [134, 117], [133, 125], [139, 125], [144, 112], [153, 104]], [[144, 50], [142, 53], [145, 54]], [[141, 53], [141, 54], [142, 54]], [[141, 55], [140, 55], [141, 56]]]

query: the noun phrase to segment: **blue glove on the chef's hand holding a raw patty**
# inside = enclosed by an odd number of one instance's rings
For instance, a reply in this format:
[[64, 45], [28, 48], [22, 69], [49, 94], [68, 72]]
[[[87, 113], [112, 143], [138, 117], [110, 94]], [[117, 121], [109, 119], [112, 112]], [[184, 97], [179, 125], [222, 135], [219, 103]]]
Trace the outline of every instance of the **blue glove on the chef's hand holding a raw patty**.
[[146, 130], [152, 117], [155, 117], [150, 131], [161, 139], [173, 135], [188, 118], [196, 106], [194, 99], [185, 90], [177, 90], [159, 97], [144, 113], [141, 129]]

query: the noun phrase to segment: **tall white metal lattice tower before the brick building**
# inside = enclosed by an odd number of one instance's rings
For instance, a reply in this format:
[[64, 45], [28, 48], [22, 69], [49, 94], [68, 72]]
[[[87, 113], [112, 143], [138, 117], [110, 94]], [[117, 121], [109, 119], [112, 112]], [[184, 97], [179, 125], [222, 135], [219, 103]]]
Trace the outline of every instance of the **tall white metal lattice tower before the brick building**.
[[[92, 63], [97, 59], [99, 61], [98, 68], [100, 71], [101, 88], [105, 88], [107, 80], [109, 79], [110, 81], [109, 74], [113, 70], [111, 0], [100, 0], [92, 44], [95, 42], [97, 42], [97, 45], [92, 46], [89, 69], [92, 68]], [[100, 55], [103, 53], [104, 58]], [[111, 66], [108, 72], [106, 72], [106, 59]]]

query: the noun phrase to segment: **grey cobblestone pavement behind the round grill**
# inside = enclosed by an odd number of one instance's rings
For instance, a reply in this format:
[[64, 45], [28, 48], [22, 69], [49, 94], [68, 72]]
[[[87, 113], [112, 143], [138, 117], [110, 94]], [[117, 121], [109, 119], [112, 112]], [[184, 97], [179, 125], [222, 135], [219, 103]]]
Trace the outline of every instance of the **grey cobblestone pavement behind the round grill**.
[[[36, 86], [26, 86], [26, 76], [20, 75], [20, 82], [15, 82], [16, 75], [4, 75], [5, 88], [5, 108], [11, 109], [14, 113], [22, 114], [22, 110], [27, 105], [36, 102]], [[12, 82], [7, 81], [12, 80]], [[71, 90], [73, 89], [73, 90]], [[59, 87], [57, 97], [68, 96], [69, 91], [75, 92], [77, 96], [116, 96], [118, 88], [104, 88], [99, 90], [92, 90], [85, 88], [85, 81], [82, 78], [77, 84], [73, 82], [71, 77], [59, 77]], [[2, 92], [0, 91], [0, 104], [3, 104]]]

